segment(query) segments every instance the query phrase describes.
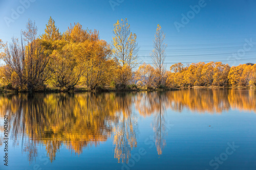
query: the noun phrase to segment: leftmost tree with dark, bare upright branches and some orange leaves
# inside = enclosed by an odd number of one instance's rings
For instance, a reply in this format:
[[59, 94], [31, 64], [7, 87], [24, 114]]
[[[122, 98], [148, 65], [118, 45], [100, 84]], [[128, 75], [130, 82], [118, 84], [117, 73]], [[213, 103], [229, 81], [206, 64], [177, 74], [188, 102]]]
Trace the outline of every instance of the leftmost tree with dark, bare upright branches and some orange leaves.
[[22, 31], [24, 38], [20, 42], [12, 38], [12, 42], [5, 47], [2, 57], [6, 63], [5, 72], [16, 88], [24, 87], [32, 91], [35, 86], [43, 85], [50, 78], [49, 72], [45, 70], [49, 55], [45, 53], [40, 40], [36, 39], [36, 34], [35, 22], [29, 20], [26, 30]]

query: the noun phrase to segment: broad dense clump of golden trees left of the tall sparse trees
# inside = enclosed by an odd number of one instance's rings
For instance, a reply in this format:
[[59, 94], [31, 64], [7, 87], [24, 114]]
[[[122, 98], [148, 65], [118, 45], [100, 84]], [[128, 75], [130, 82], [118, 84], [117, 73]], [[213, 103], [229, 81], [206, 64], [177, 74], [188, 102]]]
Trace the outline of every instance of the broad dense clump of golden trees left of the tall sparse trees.
[[63, 47], [52, 54], [57, 86], [71, 89], [79, 84], [94, 90], [111, 81], [114, 76], [110, 71], [115, 66], [110, 59], [111, 47], [99, 39], [98, 31], [84, 30], [80, 23], [75, 23], [63, 34], [62, 41]]

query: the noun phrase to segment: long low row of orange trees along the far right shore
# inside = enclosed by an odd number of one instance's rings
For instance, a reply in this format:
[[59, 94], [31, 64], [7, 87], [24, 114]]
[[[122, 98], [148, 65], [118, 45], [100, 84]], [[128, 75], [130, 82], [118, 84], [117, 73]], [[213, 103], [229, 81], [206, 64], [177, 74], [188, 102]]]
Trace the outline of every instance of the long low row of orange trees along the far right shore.
[[180, 86], [252, 86], [256, 85], [256, 64], [233, 66], [222, 62], [199, 62], [184, 67], [182, 63], [174, 64], [168, 72], [167, 84]]

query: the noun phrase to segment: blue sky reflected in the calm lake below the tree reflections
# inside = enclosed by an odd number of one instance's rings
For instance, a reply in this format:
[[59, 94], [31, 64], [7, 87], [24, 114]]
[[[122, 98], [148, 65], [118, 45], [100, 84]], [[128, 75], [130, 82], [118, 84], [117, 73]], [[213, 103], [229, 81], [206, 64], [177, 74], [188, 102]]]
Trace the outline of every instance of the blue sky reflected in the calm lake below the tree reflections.
[[[165, 118], [166, 123], [174, 126], [167, 131], [166, 145], [162, 155], [158, 155], [154, 140], [150, 140], [154, 143], [153, 148], [144, 142], [154, 136], [154, 115], [138, 117], [138, 144], [132, 154], [138, 153], [140, 148], [144, 148], [146, 154], [131, 169], [211, 169], [209, 161], [225, 152], [227, 142], [234, 142], [240, 148], [228, 156], [220, 169], [255, 169], [254, 113], [230, 110], [222, 114], [197, 114], [186, 109], [182, 112], [167, 109]], [[21, 141], [13, 147], [9, 140], [9, 166], [3, 169], [33, 169], [35, 164], [42, 169], [121, 169], [122, 163], [117, 163], [114, 158], [112, 140], [111, 137], [100, 142], [98, 147], [83, 149], [79, 156], [62, 145], [52, 163], [45, 159], [45, 147], [38, 147], [36, 162], [31, 164], [27, 161], [27, 153], [21, 152]], [[0, 150], [3, 151], [3, 146]], [[45, 165], [47, 160], [49, 162]]]

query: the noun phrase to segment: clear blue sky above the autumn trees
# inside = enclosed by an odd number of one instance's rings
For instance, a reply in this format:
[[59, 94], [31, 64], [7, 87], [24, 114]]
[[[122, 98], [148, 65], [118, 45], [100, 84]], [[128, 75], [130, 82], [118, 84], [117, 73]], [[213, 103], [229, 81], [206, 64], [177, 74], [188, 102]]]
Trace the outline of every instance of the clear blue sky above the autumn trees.
[[160, 24], [168, 45], [167, 69], [177, 62], [222, 61], [232, 66], [256, 63], [255, 9], [254, 0], [0, 0], [0, 39], [20, 37], [29, 18], [42, 34], [52, 16], [61, 32], [79, 22], [84, 29], [98, 30], [100, 38], [110, 43], [114, 23], [127, 18], [143, 62], [152, 63], [150, 53]]

